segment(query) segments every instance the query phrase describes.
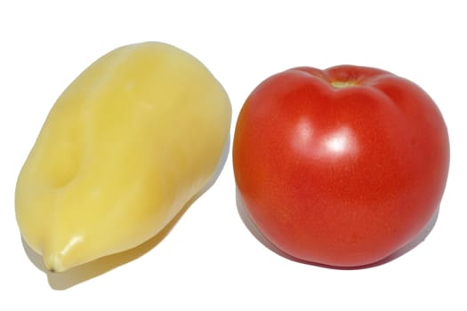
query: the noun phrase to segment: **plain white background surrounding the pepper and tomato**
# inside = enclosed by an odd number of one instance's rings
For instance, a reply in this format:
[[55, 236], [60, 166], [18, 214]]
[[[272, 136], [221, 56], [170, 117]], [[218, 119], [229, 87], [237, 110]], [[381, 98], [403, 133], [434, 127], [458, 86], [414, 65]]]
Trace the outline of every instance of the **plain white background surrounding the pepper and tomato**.
[[[2, 2], [0, 309], [467, 309], [462, 4]], [[205, 63], [229, 92], [232, 133], [248, 93], [286, 68], [366, 65], [421, 85], [438, 103], [451, 142], [447, 189], [431, 234], [398, 259], [363, 270], [284, 259], [240, 219], [229, 155], [215, 185], [155, 248], [87, 280], [79, 280], [85, 272], [77, 281], [46, 275], [26, 255], [15, 221], [20, 167], [54, 101], [85, 67], [117, 46], [149, 40], [176, 45]]]

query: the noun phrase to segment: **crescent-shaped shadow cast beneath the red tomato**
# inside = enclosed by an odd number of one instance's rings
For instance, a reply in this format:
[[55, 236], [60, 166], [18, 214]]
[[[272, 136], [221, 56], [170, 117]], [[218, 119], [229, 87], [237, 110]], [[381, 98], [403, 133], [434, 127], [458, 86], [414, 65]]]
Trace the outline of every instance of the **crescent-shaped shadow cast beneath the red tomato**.
[[250, 215], [248, 214], [248, 211], [246, 211], [245, 205], [243, 203], [243, 200], [241, 198], [241, 195], [238, 192], [238, 189], [236, 188], [236, 201], [237, 201], [237, 209], [238, 209], [238, 214], [242, 221], [245, 223], [246, 227], [248, 230], [251, 232], [254, 237], [261, 242], [264, 246], [266, 246], [270, 251], [274, 251], [278, 255], [290, 259], [292, 261], [296, 261], [302, 264], [306, 265], [311, 265], [311, 266], [317, 266], [317, 267], [326, 267], [326, 268], [331, 268], [331, 269], [337, 269], [337, 270], [357, 270], [357, 269], [365, 269], [369, 267], [378, 267], [383, 264], [386, 264], [394, 259], [398, 259], [400, 256], [406, 254], [408, 251], [413, 250], [418, 244], [422, 243], [425, 238], [430, 235], [431, 230], [433, 227], [435, 227], [436, 221], [438, 219], [439, 215], [439, 207], [438, 209], [434, 212], [433, 216], [431, 216], [430, 221], [426, 224], [425, 227], [419, 232], [418, 235], [415, 236], [414, 239], [412, 239], [409, 243], [401, 247], [398, 251], [394, 251], [391, 255], [388, 257], [376, 261], [372, 264], [365, 265], [365, 266], [358, 266], [358, 267], [335, 267], [335, 266], [329, 266], [329, 265], [324, 265], [316, 262], [310, 262], [306, 261], [303, 259], [297, 259], [294, 256], [291, 256], [290, 254], [286, 253], [285, 251], [282, 251], [281, 249], [278, 248], [274, 243], [271, 243], [270, 240], [264, 236], [261, 232], [261, 230], [256, 227], [254, 224], [253, 219], [250, 218]]

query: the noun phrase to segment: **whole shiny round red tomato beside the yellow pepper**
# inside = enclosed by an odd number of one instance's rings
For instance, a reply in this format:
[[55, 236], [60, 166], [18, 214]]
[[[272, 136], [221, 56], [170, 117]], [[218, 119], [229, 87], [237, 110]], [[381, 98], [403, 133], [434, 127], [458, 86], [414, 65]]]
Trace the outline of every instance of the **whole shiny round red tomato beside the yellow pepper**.
[[233, 165], [246, 211], [280, 250], [365, 266], [410, 242], [439, 207], [447, 126], [427, 93], [387, 71], [293, 68], [247, 98]]

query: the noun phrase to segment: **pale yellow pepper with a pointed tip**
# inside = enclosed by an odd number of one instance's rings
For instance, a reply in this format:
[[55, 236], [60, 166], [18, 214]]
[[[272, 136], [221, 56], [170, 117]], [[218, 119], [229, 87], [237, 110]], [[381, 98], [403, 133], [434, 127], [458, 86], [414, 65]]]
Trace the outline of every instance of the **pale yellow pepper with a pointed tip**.
[[157, 235], [213, 179], [229, 143], [227, 93], [187, 52], [126, 45], [60, 95], [20, 171], [26, 243], [60, 272]]

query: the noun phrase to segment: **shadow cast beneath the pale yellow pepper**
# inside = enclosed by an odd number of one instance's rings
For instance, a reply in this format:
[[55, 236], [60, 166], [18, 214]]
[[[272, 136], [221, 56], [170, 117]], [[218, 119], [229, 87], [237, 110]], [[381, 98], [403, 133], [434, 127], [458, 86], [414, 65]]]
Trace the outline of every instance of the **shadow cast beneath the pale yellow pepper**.
[[134, 259], [140, 258], [142, 255], [152, 250], [157, 246], [158, 243], [161, 243], [167, 236], [177, 222], [181, 219], [181, 216], [189, 209], [189, 206], [197, 201], [201, 195], [203, 195], [210, 187], [213, 186], [215, 181], [221, 175], [221, 171], [227, 161], [229, 156], [229, 146], [230, 146], [230, 137], [228, 138], [224, 149], [222, 150], [221, 159], [217, 165], [216, 171], [214, 171], [213, 177], [208, 181], [208, 183], [203, 187], [197, 195], [193, 196], [188, 203], [186, 203], [181, 211], [161, 230], [157, 235], [154, 235], [148, 241], [141, 243], [140, 245], [134, 247], [133, 249], [118, 252], [109, 256], [101, 257], [100, 259], [95, 259], [91, 262], [85, 263], [84, 265], [73, 267], [67, 271], [60, 273], [53, 273], [47, 270], [44, 267], [44, 261], [40, 254], [37, 254], [33, 251], [27, 243], [22, 240], [24, 251], [26, 252], [28, 259], [40, 270], [44, 271], [47, 275], [48, 282], [52, 289], [54, 290], [66, 290], [69, 287], [75, 286], [78, 283], [83, 283], [87, 280], [90, 280], [98, 275], [109, 272], [116, 267], [122, 266]]

